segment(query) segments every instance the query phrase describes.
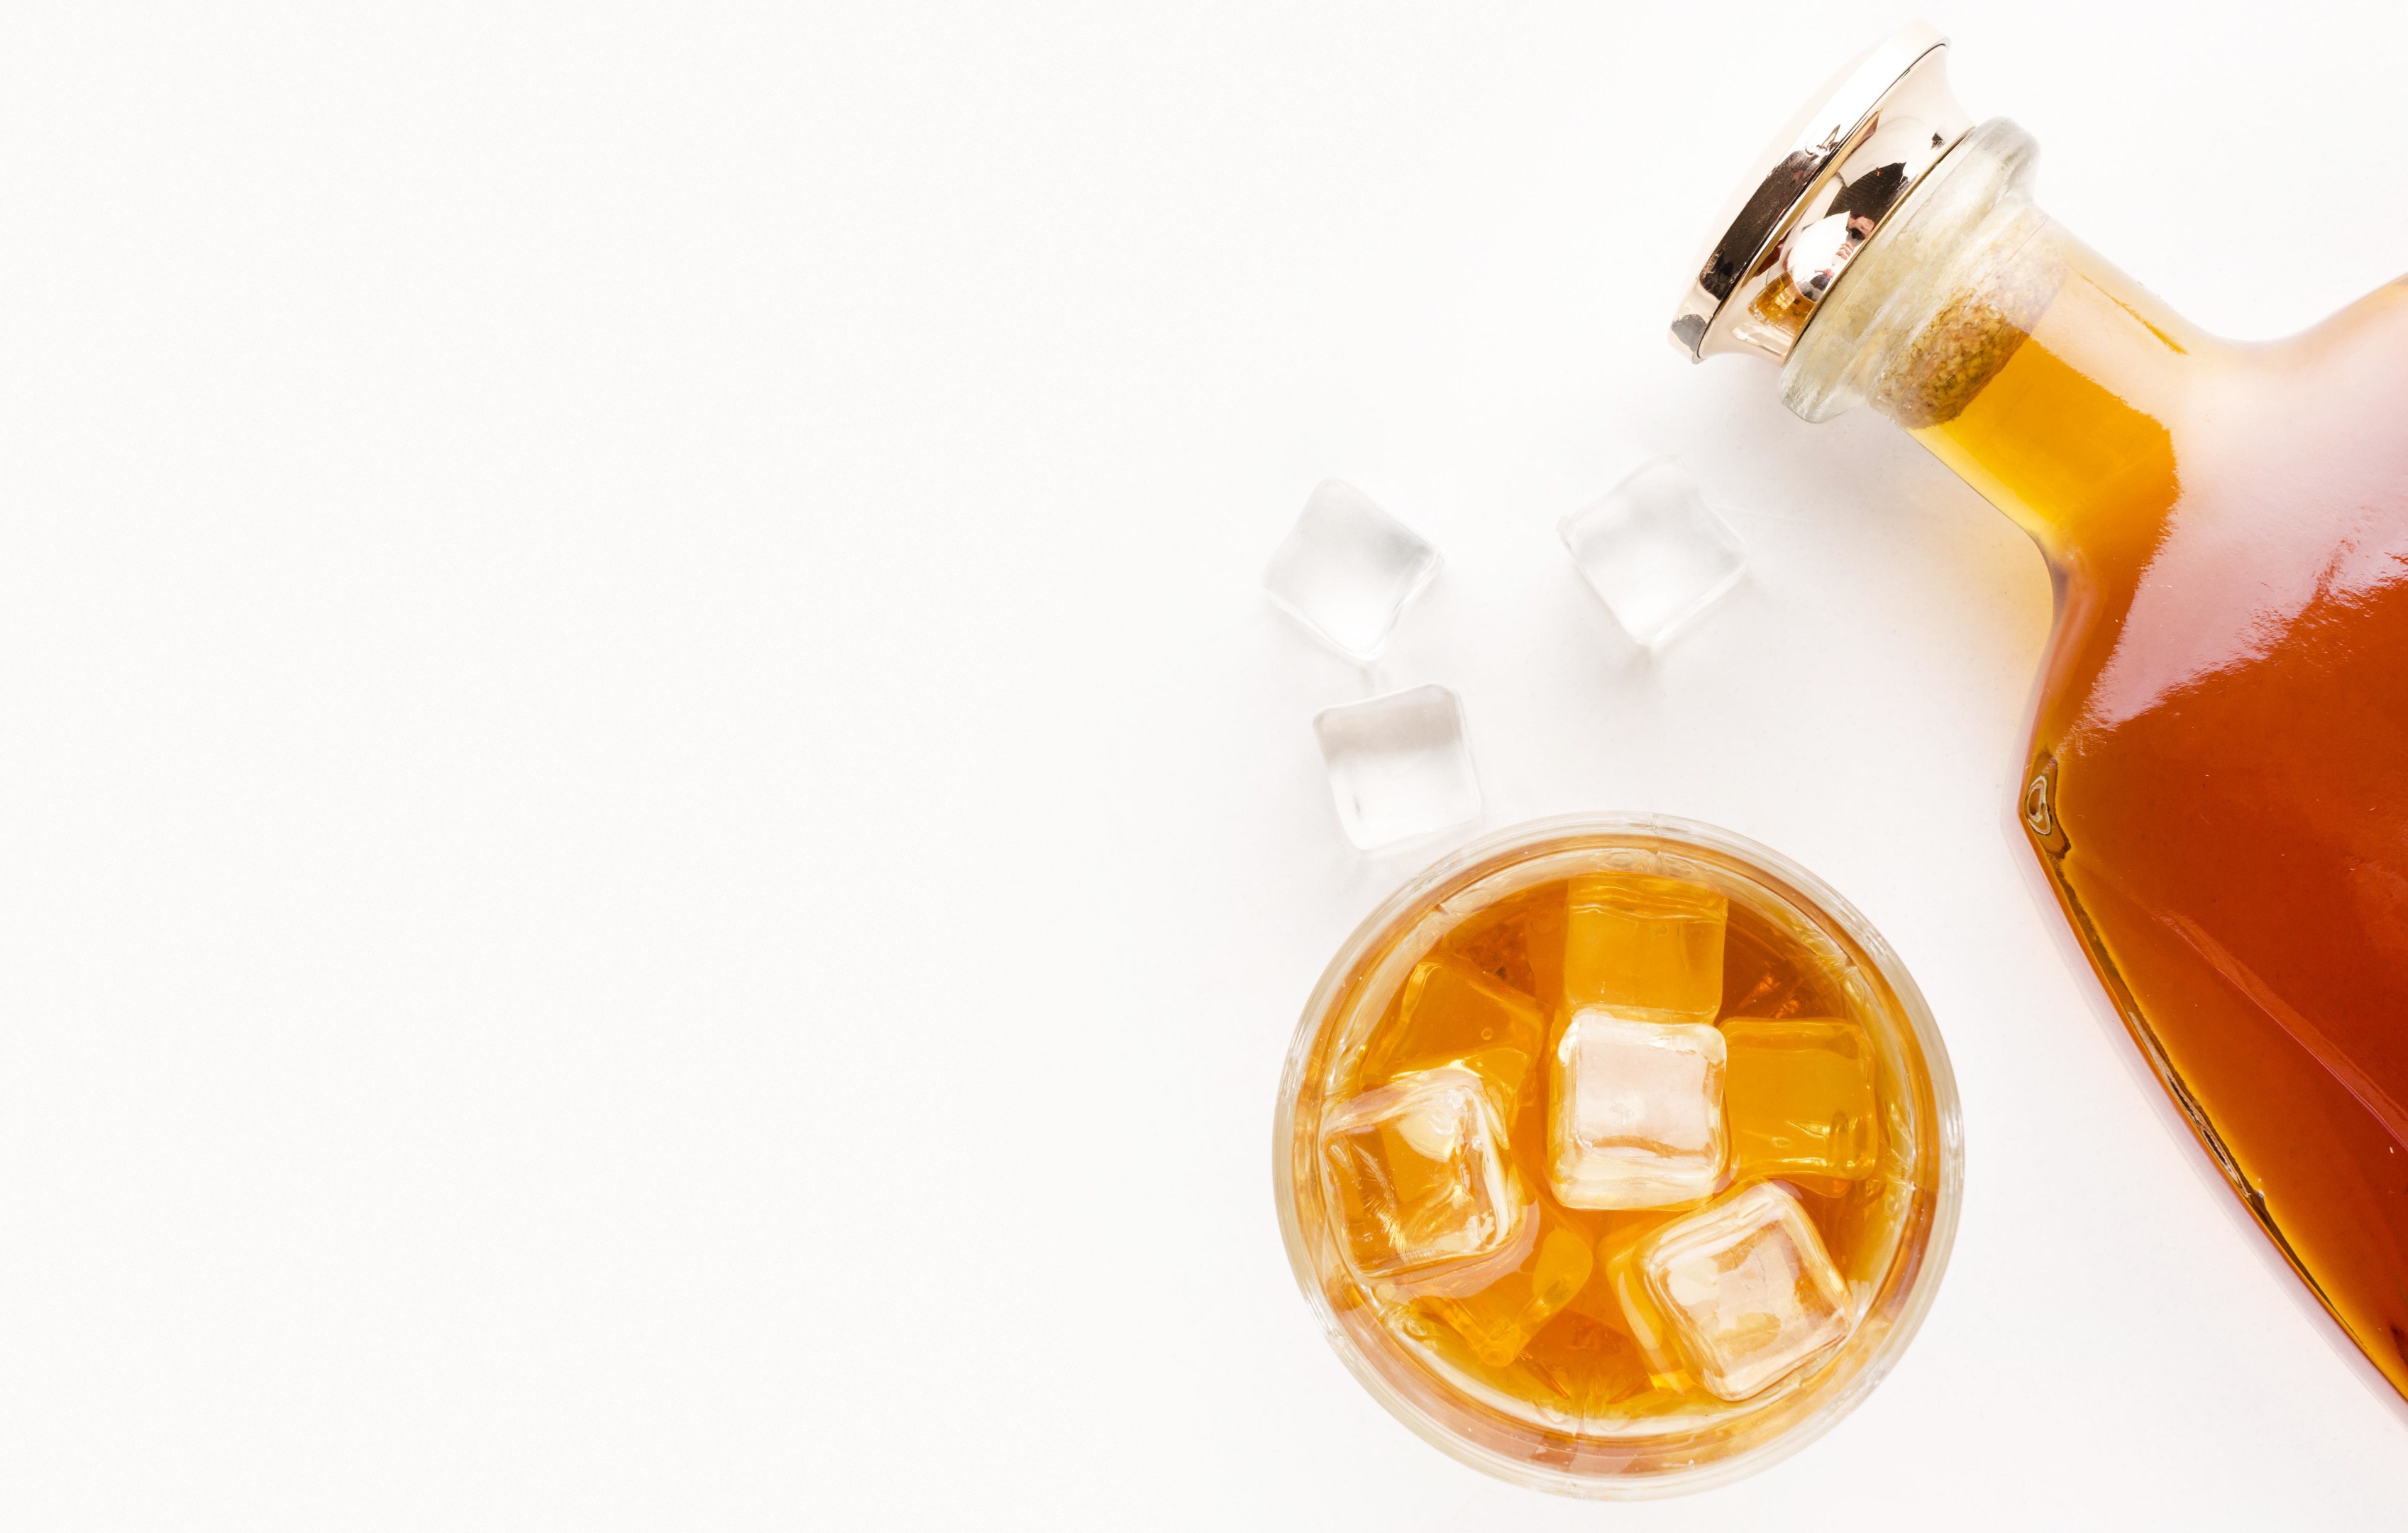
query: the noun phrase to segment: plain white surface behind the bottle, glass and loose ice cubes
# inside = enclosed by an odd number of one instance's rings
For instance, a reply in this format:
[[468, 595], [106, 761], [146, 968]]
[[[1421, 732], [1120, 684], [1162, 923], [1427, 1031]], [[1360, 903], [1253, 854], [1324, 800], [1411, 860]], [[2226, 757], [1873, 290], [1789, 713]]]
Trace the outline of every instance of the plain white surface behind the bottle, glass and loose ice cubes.
[[[0, 1526], [2408, 1523], [2006, 805], [2040, 559], [1669, 294], [1905, 12], [75, 5], [0, 22]], [[2396, 5], [1934, 5], [2177, 309], [2408, 268]], [[1556, 518], [1753, 550], [1657, 658]], [[1447, 557], [1377, 675], [1257, 574]], [[1281, 1053], [1430, 856], [1317, 709], [1445, 682], [1483, 829], [1664, 810], [1948, 1036], [1938, 1304], [1828, 1439], [1599, 1509], [1327, 1352]]]

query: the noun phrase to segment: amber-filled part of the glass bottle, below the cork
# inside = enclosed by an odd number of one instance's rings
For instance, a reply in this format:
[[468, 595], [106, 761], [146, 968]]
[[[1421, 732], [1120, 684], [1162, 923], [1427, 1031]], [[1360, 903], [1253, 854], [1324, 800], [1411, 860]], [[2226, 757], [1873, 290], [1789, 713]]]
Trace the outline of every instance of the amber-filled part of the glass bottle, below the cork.
[[2059, 578], [2023, 820], [2206, 1150], [2408, 1393], [2408, 287], [2237, 347], [2066, 282], [1917, 436]]

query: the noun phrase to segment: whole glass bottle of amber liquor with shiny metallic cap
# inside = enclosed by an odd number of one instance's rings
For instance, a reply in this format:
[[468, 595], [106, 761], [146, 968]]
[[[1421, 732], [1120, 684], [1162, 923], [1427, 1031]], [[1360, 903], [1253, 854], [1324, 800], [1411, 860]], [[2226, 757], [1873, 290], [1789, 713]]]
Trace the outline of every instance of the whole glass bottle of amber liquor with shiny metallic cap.
[[1767, 152], [1674, 345], [1871, 405], [2040, 545], [2020, 822], [2232, 1191], [2408, 1396], [2408, 282], [2203, 335], [1910, 29]]

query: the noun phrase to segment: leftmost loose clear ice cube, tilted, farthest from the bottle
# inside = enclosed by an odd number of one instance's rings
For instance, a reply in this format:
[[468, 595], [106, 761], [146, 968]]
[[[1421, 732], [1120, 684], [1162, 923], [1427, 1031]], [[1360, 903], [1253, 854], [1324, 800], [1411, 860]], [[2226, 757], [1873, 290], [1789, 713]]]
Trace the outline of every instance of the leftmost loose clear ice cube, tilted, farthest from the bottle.
[[1322, 480], [1262, 571], [1262, 588], [1322, 644], [1370, 660], [1433, 574], [1435, 547], [1353, 484]]

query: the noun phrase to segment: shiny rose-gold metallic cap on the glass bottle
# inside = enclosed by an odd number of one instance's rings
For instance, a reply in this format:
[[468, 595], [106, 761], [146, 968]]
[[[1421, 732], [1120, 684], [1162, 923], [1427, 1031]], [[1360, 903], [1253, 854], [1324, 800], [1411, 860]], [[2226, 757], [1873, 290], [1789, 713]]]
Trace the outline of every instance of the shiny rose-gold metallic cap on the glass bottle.
[[1671, 321], [1690, 362], [1780, 362], [1881, 219], [1972, 118], [1948, 89], [1948, 39], [1914, 22], [1840, 75], [1765, 147]]

